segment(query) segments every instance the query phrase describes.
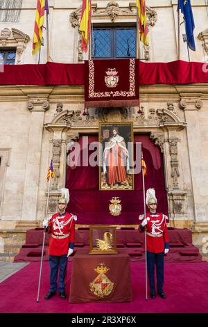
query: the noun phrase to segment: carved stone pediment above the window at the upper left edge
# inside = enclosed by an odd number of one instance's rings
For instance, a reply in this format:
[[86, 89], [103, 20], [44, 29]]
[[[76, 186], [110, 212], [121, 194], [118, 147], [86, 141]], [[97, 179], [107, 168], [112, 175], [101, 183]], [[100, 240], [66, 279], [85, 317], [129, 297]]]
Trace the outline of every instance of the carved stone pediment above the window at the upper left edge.
[[26, 44], [30, 41], [29, 35], [19, 31], [19, 29], [3, 29], [0, 32], [0, 45], [3, 47], [15, 47], [17, 48], [16, 63], [21, 63], [21, 55], [26, 48]]

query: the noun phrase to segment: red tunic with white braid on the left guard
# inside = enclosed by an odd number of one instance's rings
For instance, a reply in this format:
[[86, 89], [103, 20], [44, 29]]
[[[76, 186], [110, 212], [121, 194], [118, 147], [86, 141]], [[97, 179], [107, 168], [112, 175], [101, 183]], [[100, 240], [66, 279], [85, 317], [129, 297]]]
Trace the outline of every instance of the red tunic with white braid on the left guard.
[[[71, 214], [54, 214], [49, 221], [49, 255], [67, 255], [69, 243], [74, 242], [75, 224]], [[68, 237], [64, 237], [69, 234]], [[53, 238], [52, 235], [58, 238]], [[60, 238], [59, 238], [60, 237]]]

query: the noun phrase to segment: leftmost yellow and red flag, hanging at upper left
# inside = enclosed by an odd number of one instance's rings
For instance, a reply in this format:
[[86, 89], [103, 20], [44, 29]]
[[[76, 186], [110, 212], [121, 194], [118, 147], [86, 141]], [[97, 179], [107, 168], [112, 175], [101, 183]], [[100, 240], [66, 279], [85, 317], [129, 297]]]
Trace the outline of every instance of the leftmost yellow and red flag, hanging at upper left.
[[46, 0], [37, 0], [32, 54], [37, 54], [42, 44], [42, 26], [44, 24]]

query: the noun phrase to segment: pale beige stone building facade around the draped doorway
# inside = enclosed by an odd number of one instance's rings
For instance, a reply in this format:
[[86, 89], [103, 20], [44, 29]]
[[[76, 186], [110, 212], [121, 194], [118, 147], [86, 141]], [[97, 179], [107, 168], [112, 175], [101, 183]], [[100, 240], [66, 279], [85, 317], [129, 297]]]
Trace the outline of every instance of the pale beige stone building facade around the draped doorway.
[[[12, 0], [3, 3], [0, 51], [15, 48], [16, 65], [37, 63], [38, 55], [31, 54], [36, 0], [19, 1], [18, 8], [12, 9], [15, 12], [7, 11]], [[208, 9], [203, 0], [191, 3], [196, 24], [196, 52], [191, 51], [191, 61], [206, 62]], [[177, 60], [177, 0], [147, 0], [146, 4], [150, 45], [140, 45], [141, 57], [148, 62]], [[80, 49], [81, 5], [81, 0], [49, 1], [51, 61], [82, 63], [89, 58]], [[132, 26], [135, 22], [135, 2], [92, 1], [92, 26]], [[180, 59], [188, 60], [182, 37]], [[40, 63], [46, 63], [46, 46]], [[141, 86], [140, 99], [141, 113], [137, 108], [89, 109], [84, 116], [84, 86], [0, 86], [1, 244], [21, 243], [24, 232], [44, 218], [51, 154], [56, 178], [49, 212], [55, 212], [58, 189], [66, 178], [67, 144], [80, 133], [98, 133], [99, 122], [116, 121], [131, 121], [135, 133], [150, 134], [164, 154], [170, 224], [191, 228], [194, 242], [203, 244], [208, 234], [208, 86]]]

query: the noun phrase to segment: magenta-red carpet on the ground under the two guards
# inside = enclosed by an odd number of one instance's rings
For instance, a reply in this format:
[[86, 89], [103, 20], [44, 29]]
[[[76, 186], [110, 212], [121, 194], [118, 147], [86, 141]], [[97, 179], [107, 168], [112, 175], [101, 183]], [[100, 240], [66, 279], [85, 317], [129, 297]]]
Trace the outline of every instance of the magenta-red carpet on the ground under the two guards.
[[[35, 313], [205, 313], [208, 312], [208, 262], [171, 263], [165, 265], [166, 300], [149, 298], [145, 301], [143, 262], [131, 262], [133, 301], [130, 303], [81, 303], [71, 304], [59, 296], [44, 300], [49, 290], [49, 262], [44, 262], [40, 302], [37, 299], [37, 284], [40, 262], [28, 264], [0, 284], [0, 312]], [[67, 289], [71, 275], [68, 263]], [[68, 290], [69, 292], [69, 290]]]

